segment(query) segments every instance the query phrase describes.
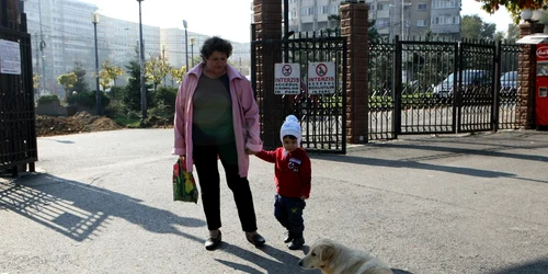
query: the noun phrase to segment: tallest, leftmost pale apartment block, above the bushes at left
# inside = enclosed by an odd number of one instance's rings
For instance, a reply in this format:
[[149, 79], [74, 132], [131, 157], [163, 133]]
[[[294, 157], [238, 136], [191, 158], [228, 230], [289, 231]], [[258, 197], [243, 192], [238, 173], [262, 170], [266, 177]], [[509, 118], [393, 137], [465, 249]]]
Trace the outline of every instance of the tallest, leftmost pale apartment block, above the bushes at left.
[[33, 71], [41, 75], [41, 90], [58, 92], [57, 76], [94, 57], [91, 14], [96, 5], [71, 0], [28, 0], [24, 4], [32, 35]]

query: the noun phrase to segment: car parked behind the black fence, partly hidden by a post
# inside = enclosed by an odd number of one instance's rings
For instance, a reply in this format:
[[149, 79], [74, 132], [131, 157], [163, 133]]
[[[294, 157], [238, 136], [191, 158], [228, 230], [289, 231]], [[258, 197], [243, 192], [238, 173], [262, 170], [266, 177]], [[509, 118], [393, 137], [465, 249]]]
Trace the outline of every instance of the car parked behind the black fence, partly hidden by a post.
[[[434, 87], [432, 93], [436, 98], [448, 98], [453, 95], [453, 88], [456, 77], [455, 73], [450, 73], [441, 83]], [[479, 69], [467, 69], [463, 70], [463, 88], [469, 85], [482, 85], [490, 84], [489, 71]]]

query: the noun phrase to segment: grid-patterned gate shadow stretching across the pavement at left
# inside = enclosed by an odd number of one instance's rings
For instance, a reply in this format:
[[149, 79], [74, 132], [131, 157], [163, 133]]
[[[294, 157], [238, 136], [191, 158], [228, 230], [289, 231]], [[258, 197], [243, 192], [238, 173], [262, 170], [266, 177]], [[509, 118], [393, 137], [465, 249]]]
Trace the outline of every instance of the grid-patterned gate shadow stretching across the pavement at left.
[[123, 218], [156, 233], [174, 233], [202, 242], [175, 226], [202, 227], [201, 219], [174, 215], [141, 204], [140, 199], [47, 173], [0, 182], [0, 208], [5, 208], [83, 241], [99, 233], [113, 217]]

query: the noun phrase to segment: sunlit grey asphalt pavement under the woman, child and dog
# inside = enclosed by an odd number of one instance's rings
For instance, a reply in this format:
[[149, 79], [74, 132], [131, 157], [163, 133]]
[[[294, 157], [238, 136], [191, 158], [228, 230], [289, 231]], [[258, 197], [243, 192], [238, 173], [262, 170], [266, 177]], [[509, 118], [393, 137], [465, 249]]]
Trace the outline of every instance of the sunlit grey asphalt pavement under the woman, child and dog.
[[[0, 179], [0, 273], [319, 273], [319, 238], [395, 273], [548, 273], [548, 133], [419, 136], [312, 155], [307, 244], [273, 216], [273, 167], [252, 158], [259, 232], [246, 241], [222, 181], [220, 249], [202, 204], [172, 201], [171, 129], [38, 139], [38, 172]], [[224, 179], [222, 179], [224, 180]]]

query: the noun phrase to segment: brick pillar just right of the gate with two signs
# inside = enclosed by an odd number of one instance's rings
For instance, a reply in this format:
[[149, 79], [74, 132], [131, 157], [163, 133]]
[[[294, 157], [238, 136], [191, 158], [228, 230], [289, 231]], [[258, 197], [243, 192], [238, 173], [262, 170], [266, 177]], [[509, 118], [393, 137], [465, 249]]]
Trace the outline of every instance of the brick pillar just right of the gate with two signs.
[[368, 140], [369, 64], [368, 9], [363, 3], [341, 4], [341, 33], [347, 43], [346, 69], [346, 141], [364, 144]]

